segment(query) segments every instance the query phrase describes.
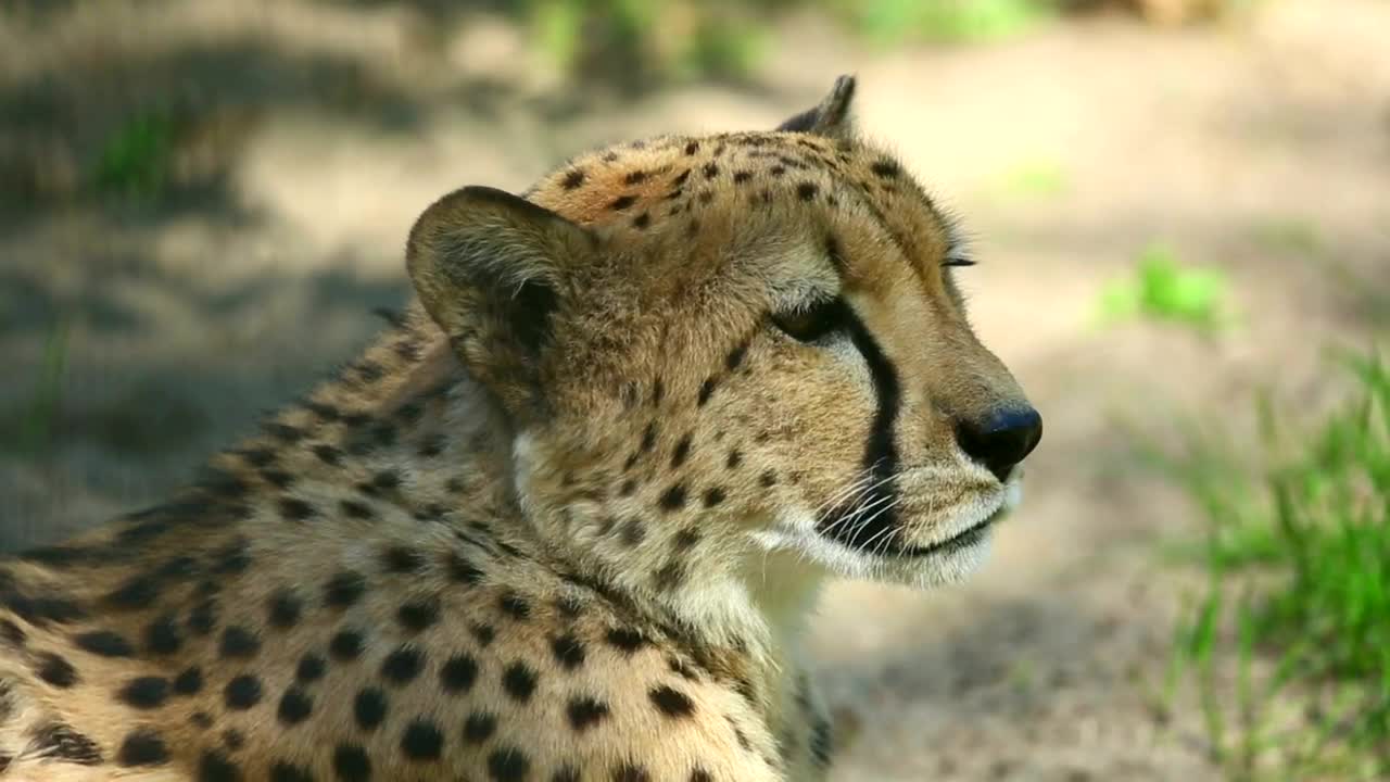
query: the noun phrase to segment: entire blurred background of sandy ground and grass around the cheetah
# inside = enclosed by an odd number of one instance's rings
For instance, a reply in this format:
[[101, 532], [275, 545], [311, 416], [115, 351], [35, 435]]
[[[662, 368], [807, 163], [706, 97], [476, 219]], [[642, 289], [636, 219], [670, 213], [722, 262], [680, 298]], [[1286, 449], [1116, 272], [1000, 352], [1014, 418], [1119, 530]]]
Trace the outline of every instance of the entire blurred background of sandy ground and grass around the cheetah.
[[1047, 437], [969, 584], [828, 593], [834, 778], [1390, 778], [1386, 0], [6, 0], [0, 551], [349, 359], [441, 193], [841, 72]]

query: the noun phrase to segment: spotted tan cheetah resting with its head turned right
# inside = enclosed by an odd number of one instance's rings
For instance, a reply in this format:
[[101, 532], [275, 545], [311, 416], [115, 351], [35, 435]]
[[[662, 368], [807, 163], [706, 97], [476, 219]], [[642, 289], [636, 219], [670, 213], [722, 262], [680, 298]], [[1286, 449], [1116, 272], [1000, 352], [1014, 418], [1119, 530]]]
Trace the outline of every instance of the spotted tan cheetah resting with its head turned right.
[[824, 779], [821, 584], [963, 576], [1041, 437], [853, 90], [425, 209], [357, 359], [0, 561], [0, 779]]

